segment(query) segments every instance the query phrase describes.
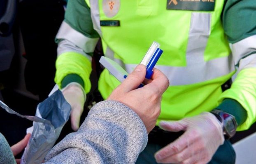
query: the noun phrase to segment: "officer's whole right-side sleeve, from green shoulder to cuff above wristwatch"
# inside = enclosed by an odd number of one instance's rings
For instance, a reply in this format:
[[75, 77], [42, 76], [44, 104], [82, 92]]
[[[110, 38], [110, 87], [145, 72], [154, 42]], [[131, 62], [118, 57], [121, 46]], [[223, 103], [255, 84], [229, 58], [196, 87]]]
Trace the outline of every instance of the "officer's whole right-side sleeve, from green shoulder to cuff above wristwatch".
[[[256, 121], [256, 0], [226, 0], [223, 28], [237, 66], [237, 77], [217, 107], [234, 115], [246, 130]], [[254, 43], [253, 43], [254, 42]]]

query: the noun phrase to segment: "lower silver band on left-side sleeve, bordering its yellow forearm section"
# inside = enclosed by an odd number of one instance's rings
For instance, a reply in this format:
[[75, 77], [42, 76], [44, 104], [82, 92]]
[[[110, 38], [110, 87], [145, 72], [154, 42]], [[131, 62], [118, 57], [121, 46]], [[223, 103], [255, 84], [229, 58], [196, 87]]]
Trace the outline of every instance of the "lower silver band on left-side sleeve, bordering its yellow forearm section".
[[65, 52], [77, 52], [81, 55], [84, 55], [87, 57], [90, 61], [92, 61], [92, 57], [90, 55], [87, 55], [81, 48], [77, 47], [74, 43], [71, 41], [68, 41], [66, 39], [60, 41], [58, 43], [58, 48], [57, 48], [57, 54], [60, 56], [61, 54]]

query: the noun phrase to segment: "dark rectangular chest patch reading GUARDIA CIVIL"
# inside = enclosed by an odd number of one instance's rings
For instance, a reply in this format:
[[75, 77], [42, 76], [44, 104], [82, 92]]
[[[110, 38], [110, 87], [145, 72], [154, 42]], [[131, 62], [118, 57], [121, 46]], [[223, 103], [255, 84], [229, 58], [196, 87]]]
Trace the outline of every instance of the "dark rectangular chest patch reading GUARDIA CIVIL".
[[214, 11], [215, 0], [167, 0], [169, 10]]

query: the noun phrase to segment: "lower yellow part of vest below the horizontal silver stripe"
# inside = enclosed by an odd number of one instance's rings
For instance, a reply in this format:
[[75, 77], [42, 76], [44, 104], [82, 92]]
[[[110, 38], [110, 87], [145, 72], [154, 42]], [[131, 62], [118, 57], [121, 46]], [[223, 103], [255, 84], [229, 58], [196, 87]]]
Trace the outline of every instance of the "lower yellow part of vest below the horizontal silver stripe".
[[[220, 86], [233, 73], [207, 82], [170, 86], [163, 94], [161, 114], [157, 120], [157, 125], [162, 120], [179, 120], [198, 115], [201, 112], [209, 112], [217, 107], [219, 105], [217, 100], [222, 93]], [[99, 84], [102, 97], [107, 99], [120, 82], [115, 77], [109, 76], [109, 72], [105, 69], [100, 75]]]

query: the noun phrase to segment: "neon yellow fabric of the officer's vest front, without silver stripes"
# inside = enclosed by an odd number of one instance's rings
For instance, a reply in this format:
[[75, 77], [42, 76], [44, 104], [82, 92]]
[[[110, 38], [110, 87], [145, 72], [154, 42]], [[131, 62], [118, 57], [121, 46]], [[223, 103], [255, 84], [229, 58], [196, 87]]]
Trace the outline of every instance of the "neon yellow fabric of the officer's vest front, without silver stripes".
[[[157, 41], [164, 50], [158, 65], [186, 66], [193, 11], [166, 10], [166, 1], [122, 1], [118, 14], [108, 18], [102, 4], [100, 0], [100, 20], [120, 20], [120, 27], [101, 27], [105, 52], [108, 46], [114, 51], [114, 58], [121, 59], [125, 64], [139, 64], [151, 43]], [[216, 1], [215, 11], [209, 12], [212, 14], [211, 34], [205, 49], [205, 61], [230, 55], [220, 20], [222, 7], [223, 1]], [[144, 26], [152, 28], [142, 28]], [[232, 75], [230, 73], [196, 84], [170, 86], [163, 95], [158, 122], [179, 120], [214, 109], [219, 105], [217, 100], [222, 93], [221, 84]], [[177, 78], [182, 78], [182, 75]], [[118, 80], [104, 70], [99, 80], [99, 91], [103, 98], [106, 99], [119, 84]]]

